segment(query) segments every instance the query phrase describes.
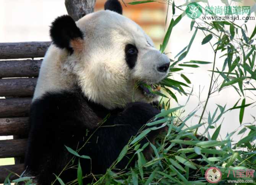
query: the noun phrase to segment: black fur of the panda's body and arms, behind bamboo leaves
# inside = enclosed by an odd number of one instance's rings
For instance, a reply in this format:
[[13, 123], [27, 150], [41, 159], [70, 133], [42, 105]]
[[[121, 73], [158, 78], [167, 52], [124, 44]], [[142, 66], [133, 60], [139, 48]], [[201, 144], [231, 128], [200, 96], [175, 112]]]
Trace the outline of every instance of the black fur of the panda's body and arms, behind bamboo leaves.
[[[109, 110], [87, 100], [80, 91], [47, 93], [31, 106], [31, 128], [25, 159], [27, 172], [36, 176], [40, 185], [49, 185], [55, 179], [53, 173], [58, 175], [73, 157], [64, 145], [76, 150], [95, 131], [89, 143], [79, 151], [80, 155], [91, 157], [92, 166], [89, 159], [79, 160], [83, 175], [91, 172], [94, 175], [104, 174], [131, 136], [136, 135], [158, 113], [157, 108], [147, 103], [130, 103], [125, 109]], [[110, 117], [99, 127], [97, 123], [108, 114]], [[152, 142], [159, 132], [151, 131], [149, 140]], [[141, 144], [146, 142], [144, 139]], [[118, 169], [126, 166], [128, 157], [118, 163]], [[76, 159], [74, 165], [77, 164]], [[65, 183], [75, 180], [77, 169], [63, 171], [60, 178]], [[84, 178], [84, 184], [91, 181], [91, 178]]]

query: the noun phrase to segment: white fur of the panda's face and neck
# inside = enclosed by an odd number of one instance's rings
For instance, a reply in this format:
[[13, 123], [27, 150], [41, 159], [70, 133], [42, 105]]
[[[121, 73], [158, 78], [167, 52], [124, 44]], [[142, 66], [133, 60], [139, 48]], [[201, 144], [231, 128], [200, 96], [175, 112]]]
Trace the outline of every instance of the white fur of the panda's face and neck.
[[[157, 72], [157, 65], [168, 58], [152, 47], [152, 40], [141, 27], [109, 10], [88, 14], [76, 24], [84, 34], [82, 50], [68, 55], [65, 49], [50, 46], [33, 100], [45, 92], [75, 89], [77, 83], [86, 97], [110, 109], [131, 101], [152, 101], [134, 88], [135, 81], [159, 82], [166, 74]], [[125, 45], [129, 43], [138, 48], [132, 70], [125, 61]], [[156, 55], [149, 58], [151, 51]]]

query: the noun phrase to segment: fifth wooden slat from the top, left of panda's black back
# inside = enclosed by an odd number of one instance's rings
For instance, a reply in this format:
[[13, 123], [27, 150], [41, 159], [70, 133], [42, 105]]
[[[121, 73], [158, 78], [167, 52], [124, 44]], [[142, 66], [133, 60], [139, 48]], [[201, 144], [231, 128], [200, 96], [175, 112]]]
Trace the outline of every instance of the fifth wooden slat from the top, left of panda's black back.
[[28, 117], [0, 118], [0, 136], [2, 135], [28, 135]]

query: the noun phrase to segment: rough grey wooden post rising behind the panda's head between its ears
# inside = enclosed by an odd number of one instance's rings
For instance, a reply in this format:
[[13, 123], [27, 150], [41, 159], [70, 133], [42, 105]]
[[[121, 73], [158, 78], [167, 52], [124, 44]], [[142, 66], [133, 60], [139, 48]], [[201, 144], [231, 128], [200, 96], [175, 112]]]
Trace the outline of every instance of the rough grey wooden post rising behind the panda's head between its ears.
[[95, 2], [96, 0], [65, 0], [65, 6], [68, 14], [77, 21], [94, 11]]

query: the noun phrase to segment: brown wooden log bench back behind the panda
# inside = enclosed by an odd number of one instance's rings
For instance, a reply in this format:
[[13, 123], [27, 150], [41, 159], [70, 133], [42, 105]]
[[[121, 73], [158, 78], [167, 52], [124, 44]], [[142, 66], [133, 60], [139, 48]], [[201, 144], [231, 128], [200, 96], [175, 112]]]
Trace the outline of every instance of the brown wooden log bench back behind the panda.
[[0, 136], [14, 138], [0, 140], [0, 158], [14, 157], [16, 163], [0, 166], [0, 183], [10, 171], [20, 175], [24, 170], [29, 108], [42, 63], [42, 59], [33, 58], [43, 57], [49, 45], [50, 42], [0, 43]]

